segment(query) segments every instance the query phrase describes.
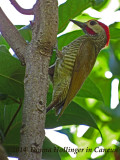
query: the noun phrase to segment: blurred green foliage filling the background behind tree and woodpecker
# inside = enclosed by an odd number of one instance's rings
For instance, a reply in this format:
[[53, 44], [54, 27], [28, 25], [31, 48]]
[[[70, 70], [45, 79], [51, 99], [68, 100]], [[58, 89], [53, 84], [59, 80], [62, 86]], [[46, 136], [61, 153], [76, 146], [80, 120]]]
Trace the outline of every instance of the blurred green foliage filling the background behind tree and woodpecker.
[[[59, 6], [59, 31], [58, 31], [58, 49], [69, 44], [77, 37], [83, 35], [81, 30], [74, 30], [63, 34], [69, 19], [86, 21], [92, 18], [83, 11], [89, 7], [97, 11], [107, 8], [110, 0], [67, 0]], [[118, 10], [119, 10], [118, 6]], [[117, 12], [117, 11], [115, 11]], [[97, 18], [96, 18], [97, 19]], [[27, 42], [31, 40], [30, 26], [16, 26], [21, 35]], [[118, 160], [120, 159], [120, 104], [115, 109], [111, 109], [111, 84], [114, 80], [120, 80], [120, 22], [115, 22], [109, 26], [110, 28], [110, 44], [104, 48], [98, 55], [95, 66], [82, 86], [79, 93], [73, 99], [63, 116], [57, 121], [54, 110], [50, 111], [46, 116], [46, 129], [62, 126], [61, 130], [57, 130], [61, 134], [68, 136], [69, 140], [76, 144], [78, 148], [84, 148], [83, 152], [79, 152], [76, 158], [70, 157], [66, 152], [54, 152], [53, 144], [48, 138], [44, 141], [43, 158], [52, 160], [90, 160], [91, 154], [96, 147], [102, 146], [105, 149], [118, 149], [118, 152], [104, 152], [97, 157], [98, 160]], [[20, 142], [20, 127], [22, 108], [17, 114], [11, 125], [16, 111], [20, 106], [21, 100], [24, 99], [24, 73], [25, 67], [21, 66], [16, 56], [12, 56], [9, 52], [10, 46], [0, 35], [0, 137], [9, 156], [18, 154]], [[53, 51], [50, 65], [55, 62], [56, 53]], [[112, 76], [107, 78], [105, 73], [110, 71]], [[118, 98], [120, 98], [120, 86], [118, 85]], [[114, 93], [116, 94], [116, 93]], [[49, 86], [47, 95], [47, 105], [52, 99], [52, 85]], [[76, 130], [70, 132], [74, 125]], [[77, 136], [79, 125], [88, 125], [89, 129], [82, 137]], [[8, 127], [10, 126], [10, 127]], [[82, 132], [82, 131], [81, 131]], [[102, 137], [102, 143], [98, 144], [96, 139]], [[58, 137], [59, 138], [59, 137]], [[117, 143], [113, 144], [113, 140]], [[87, 147], [91, 151], [86, 151]], [[52, 149], [51, 152], [46, 149]], [[26, 148], [21, 151], [26, 151]], [[103, 153], [103, 152], [102, 152]]]

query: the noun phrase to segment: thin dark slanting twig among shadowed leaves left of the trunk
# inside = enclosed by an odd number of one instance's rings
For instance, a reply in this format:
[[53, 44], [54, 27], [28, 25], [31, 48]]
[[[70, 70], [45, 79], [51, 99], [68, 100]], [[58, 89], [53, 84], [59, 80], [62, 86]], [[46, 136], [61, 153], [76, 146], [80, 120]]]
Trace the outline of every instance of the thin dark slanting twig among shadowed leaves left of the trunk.
[[20, 100], [20, 105], [19, 105], [17, 111], [15, 112], [14, 116], [12, 117], [12, 120], [10, 121], [10, 123], [9, 123], [9, 125], [8, 125], [8, 127], [7, 127], [7, 129], [6, 129], [6, 131], [5, 131], [5, 133], [4, 133], [4, 137], [6, 137], [8, 131], [9, 131], [9, 129], [10, 129], [12, 123], [14, 122], [14, 120], [15, 120], [17, 114], [19, 113], [21, 107], [22, 107], [22, 100]]

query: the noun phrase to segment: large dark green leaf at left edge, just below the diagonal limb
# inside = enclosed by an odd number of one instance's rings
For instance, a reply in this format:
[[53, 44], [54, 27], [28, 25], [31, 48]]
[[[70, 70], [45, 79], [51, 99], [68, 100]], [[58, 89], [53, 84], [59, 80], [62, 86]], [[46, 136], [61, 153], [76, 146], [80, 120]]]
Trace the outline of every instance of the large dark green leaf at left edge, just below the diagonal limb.
[[0, 47], [0, 92], [11, 96], [23, 98], [25, 67], [20, 61], [8, 52], [5, 47]]

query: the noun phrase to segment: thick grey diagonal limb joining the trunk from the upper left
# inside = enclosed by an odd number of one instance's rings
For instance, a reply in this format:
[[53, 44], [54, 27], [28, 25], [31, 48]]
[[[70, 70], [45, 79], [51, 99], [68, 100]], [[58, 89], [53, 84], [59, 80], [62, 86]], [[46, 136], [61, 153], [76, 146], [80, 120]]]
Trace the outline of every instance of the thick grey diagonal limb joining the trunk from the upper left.
[[0, 32], [2, 33], [5, 40], [14, 50], [17, 57], [24, 64], [24, 53], [26, 51], [27, 42], [20, 35], [15, 26], [4, 14], [3, 10], [0, 7]]

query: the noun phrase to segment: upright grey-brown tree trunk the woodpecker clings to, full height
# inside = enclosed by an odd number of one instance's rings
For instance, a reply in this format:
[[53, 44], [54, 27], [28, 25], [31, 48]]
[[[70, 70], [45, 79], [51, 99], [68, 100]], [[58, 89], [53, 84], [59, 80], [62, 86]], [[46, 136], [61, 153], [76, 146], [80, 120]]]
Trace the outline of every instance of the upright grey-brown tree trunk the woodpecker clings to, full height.
[[40, 150], [45, 137], [48, 67], [58, 31], [57, 0], [37, 0], [34, 5], [32, 40], [25, 54], [24, 105], [19, 160], [41, 160]]

